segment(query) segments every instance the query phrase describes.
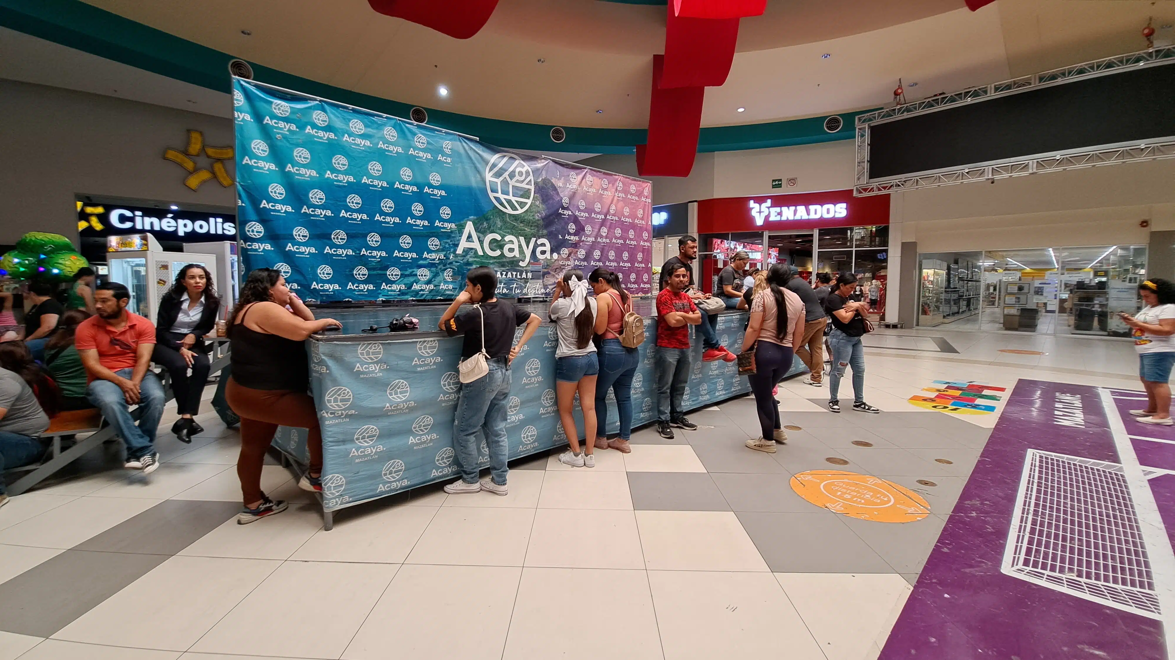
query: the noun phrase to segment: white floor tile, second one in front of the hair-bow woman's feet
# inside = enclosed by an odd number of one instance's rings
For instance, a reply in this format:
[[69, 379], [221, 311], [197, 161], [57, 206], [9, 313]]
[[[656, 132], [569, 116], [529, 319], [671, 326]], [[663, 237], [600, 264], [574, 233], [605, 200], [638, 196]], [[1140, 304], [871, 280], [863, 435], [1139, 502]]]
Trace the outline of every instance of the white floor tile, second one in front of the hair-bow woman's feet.
[[526, 566], [644, 568], [636, 516], [632, 511], [539, 509]]

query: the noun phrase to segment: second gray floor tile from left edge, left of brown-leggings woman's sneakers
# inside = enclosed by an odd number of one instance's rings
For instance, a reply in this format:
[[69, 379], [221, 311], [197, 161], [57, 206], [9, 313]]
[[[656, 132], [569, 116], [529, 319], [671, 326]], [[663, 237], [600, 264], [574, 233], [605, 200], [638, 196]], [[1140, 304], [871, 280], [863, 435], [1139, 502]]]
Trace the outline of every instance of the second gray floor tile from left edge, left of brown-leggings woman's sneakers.
[[175, 554], [236, 516], [234, 501], [169, 499], [82, 541], [74, 550]]

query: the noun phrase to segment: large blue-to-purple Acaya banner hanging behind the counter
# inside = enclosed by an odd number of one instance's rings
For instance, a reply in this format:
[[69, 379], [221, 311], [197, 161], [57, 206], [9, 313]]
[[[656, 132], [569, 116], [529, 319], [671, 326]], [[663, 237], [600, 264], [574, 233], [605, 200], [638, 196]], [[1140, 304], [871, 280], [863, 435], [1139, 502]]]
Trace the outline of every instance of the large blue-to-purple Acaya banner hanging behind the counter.
[[649, 182], [233, 81], [242, 267], [303, 299], [451, 298], [491, 265], [504, 296], [604, 267], [652, 291]]

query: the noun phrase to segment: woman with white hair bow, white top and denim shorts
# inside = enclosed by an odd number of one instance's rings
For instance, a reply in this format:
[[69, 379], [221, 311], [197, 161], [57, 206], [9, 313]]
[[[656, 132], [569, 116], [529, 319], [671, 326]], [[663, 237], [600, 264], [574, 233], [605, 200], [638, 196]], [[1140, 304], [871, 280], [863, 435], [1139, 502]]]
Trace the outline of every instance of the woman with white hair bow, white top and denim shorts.
[[[591, 285], [582, 270], [569, 270], [555, 285], [551, 299], [551, 321], [559, 332], [559, 348], [555, 351], [555, 396], [559, 404], [559, 420], [568, 436], [568, 451], [559, 460], [572, 467], [595, 467], [592, 456], [596, 439], [596, 376], [599, 361], [592, 335], [596, 331], [596, 298], [588, 297]], [[584, 413], [584, 435], [588, 442], [579, 447], [580, 435], [571, 415], [576, 391]]]

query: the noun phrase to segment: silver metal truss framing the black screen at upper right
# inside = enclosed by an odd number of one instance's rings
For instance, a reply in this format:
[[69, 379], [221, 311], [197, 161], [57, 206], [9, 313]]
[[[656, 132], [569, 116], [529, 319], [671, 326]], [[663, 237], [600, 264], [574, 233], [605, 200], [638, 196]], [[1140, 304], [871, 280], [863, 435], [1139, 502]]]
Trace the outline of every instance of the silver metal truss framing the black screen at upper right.
[[1048, 157], [1026, 157], [1006, 163], [975, 168], [959, 168], [887, 181], [871, 182], [868, 180], [868, 128], [872, 123], [907, 117], [915, 114], [931, 113], [958, 103], [1015, 94], [1025, 89], [1043, 85], [1055, 85], [1074, 79], [1104, 75], [1124, 67], [1169, 63], [1171, 60], [1175, 60], [1175, 46], [1164, 46], [1162, 48], [1153, 48], [1139, 53], [1128, 53], [1124, 55], [1104, 58], [1092, 62], [1083, 62], [1033, 75], [1014, 78], [1012, 80], [995, 82], [986, 87], [972, 87], [969, 89], [955, 92], [954, 94], [941, 94], [913, 103], [895, 106], [893, 108], [882, 108], [873, 113], [858, 115], [857, 186], [853, 189], [853, 194], [855, 196], [880, 195], [894, 190], [952, 186], [955, 183], [966, 183], [968, 181], [1007, 179], [1010, 176], [1035, 174], [1038, 171], [1061, 171], [1122, 162], [1175, 157], [1175, 142], [1160, 142], [1153, 144], [1122, 146], [1110, 149], [1093, 148], [1090, 150]]

